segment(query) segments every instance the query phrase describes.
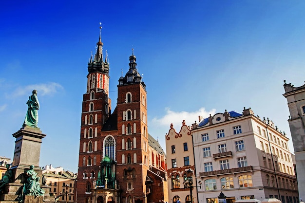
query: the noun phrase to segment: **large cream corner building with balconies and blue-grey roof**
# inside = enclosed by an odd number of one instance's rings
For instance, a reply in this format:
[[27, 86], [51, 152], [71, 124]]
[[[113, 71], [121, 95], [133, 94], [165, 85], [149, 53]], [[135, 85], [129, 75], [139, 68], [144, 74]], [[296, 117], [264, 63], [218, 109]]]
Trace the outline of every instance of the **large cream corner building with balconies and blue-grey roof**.
[[299, 203], [297, 180], [288, 138], [269, 119], [225, 111], [192, 125], [199, 203], [277, 198]]

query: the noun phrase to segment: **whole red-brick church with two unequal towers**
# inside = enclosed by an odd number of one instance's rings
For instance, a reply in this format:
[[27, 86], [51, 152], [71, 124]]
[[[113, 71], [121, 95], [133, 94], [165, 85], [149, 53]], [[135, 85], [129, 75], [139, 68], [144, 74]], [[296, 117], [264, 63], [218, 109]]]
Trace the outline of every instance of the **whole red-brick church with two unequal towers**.
[[[101, 29], [101, 28], [100, 28]], [[88, 63], [83, 95], [77, 203], [168, 202], [166, 155], [148, 133], [146, 85], [129, 57], [129, 71], [117, 85], [117, 106], [109, 98], [109, 62], [101, 34]]]

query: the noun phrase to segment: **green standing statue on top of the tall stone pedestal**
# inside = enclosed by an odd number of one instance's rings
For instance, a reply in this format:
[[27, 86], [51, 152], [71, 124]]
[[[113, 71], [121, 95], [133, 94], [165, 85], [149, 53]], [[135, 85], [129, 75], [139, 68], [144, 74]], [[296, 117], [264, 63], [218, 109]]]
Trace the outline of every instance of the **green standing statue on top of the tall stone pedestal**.
[[38, 110], [39, 102], [37, 97], [37, 90], [33, 90], [33, 94], [29, 96], [29, 100], [26, 102], [28, 105], [28, 111], [26, 112], [23, 127], [30, 126], [38, 128]]

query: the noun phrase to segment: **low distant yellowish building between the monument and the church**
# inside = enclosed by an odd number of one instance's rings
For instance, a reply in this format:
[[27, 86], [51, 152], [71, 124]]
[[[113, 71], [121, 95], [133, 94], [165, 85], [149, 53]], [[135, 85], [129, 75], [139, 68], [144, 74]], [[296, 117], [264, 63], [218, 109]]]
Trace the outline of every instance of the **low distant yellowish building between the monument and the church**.
[[71, 171], [65, 171], [62, 167], [54, 168], [52, 165], [44, 166], [42, 168], [42, 174], [46, 179], [46, 185], [51, 186], [50, 195], [58, 197], [57, 203], [66, 202], [66, 192], [67, 202], [76, 202], [74, 200], [74, 186], [77, 174]]

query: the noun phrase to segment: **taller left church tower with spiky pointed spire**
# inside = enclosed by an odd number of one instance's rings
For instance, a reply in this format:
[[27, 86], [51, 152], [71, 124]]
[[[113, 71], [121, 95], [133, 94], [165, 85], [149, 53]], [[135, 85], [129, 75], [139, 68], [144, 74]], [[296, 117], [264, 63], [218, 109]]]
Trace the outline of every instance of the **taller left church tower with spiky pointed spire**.
[[[87, 92], [83, 95], [78, 157], [77, 202], [91, 199], [91, 189], [102, 160], [100, 132], [111, 112], [109, 64], [103, 60], [101, 27], [95, 56], [88, 62]], [[96, 174], [95, 174], [96, 173]]]

